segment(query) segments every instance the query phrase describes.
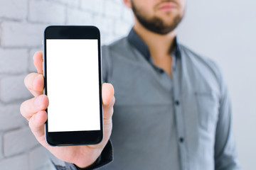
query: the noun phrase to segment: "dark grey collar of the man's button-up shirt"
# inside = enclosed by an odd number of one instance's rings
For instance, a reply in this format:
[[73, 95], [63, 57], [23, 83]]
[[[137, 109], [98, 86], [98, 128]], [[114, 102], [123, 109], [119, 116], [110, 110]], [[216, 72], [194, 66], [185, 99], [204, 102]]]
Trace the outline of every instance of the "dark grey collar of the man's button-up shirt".
[[[135, 32], [134, 28], [130, 30], [128, 35], [128, 41], [129, 43], [134, 46], [139, 52], [142, 53], [142, 55], [146, 58], [146, 60], [150, 60], [150, 52], [149, 47], [146, 45], [146, 43], [142, 40], [142, 38], [139, 37], [139, 35]], [[175, 57], [181, 57], [181, 48], [180, 45], [178, 45], [177, 37], [174, 39], [174, 45], [175, 50], [174, 52], [171, 52], [174, 54]]]

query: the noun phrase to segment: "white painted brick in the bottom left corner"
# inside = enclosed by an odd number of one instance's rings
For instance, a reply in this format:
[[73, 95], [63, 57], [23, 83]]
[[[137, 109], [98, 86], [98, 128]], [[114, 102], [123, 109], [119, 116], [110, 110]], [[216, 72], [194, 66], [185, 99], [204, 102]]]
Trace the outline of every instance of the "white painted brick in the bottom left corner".
[[4, 159], [0, 162], [0, 169], [3, 170], [28, 170], [28, 156], [26, 154], [19, 155], [17, 157], [11, 157]]

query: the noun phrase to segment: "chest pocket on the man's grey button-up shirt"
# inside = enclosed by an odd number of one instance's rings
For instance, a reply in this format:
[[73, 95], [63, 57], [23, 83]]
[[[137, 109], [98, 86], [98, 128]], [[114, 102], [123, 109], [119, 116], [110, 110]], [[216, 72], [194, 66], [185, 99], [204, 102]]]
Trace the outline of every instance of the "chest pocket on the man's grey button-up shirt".
[[195, 93], [198, 108], [199, 127], [208, 132], [213, 132], [218, 120], [218, 98], [212, 92]]

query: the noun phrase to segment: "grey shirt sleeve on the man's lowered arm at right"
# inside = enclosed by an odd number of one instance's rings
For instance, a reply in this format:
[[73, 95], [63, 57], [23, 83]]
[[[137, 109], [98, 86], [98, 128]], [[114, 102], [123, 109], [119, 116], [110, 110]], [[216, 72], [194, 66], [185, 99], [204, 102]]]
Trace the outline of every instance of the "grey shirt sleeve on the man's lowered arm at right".
[[215, 133], [215, 170], [237, 170], [240, 169], [240, 163], [233, 136], [231, 102], [223, 79], [220, 87], [222, 96]]

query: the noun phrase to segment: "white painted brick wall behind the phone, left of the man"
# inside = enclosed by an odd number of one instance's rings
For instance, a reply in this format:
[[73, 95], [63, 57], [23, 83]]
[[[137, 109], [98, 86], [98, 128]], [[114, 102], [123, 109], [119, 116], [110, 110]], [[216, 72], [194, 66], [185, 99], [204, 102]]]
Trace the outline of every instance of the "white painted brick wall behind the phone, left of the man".
[[132, 23], [122, 0], [0, 0], [0, 169], [53, 169], [19, 113], [32, 97], [23, 79], [36, 72], [33, 54], [42, 49], [44, 28], [94, 25], [106, 44], [126, 35]]

